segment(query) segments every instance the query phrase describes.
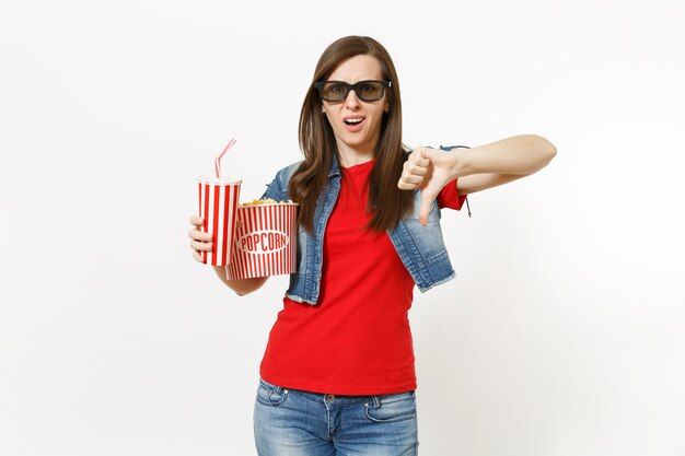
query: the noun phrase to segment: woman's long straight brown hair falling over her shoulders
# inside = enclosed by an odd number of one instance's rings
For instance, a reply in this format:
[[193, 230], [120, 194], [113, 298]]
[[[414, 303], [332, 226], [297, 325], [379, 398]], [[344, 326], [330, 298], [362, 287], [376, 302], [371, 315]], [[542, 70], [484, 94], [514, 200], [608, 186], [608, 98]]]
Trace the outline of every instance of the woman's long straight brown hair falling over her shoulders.
[[300, 148], [304, 162], [293, 174], [288, 190], [300, 203], [299, 222], [309, 232], [314, 230], [316, 201], [328, 182], [333, 154], [337, 151], [333, 127], [322, 115], [322, 101], [314, 82], [325, 81], [340, 62], [359, 55], [375, 57], [381, 63], [383, 79], [392, 82], [385, 91], [388, 112], [381, 121], [375, 163], [369, 177], [367, 210], [373, 215], [368, 227], [375, 231], [394, 229], [414, 206], [413, 192], [397, 188], [407, 154], [402, 145], [402, 102], [395, 66], [387, 50], [375, 39], [347, 36], [330, 44], [322, 54], [300, 113]]

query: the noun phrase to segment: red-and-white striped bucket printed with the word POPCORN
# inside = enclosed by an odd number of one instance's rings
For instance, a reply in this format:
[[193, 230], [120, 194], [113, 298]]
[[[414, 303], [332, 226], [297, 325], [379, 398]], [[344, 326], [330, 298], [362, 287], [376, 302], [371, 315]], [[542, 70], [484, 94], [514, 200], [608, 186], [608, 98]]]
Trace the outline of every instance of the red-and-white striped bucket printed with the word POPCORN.
[[297, 271], [298, 204], [241, 206], [227, 279], [288, 274]]

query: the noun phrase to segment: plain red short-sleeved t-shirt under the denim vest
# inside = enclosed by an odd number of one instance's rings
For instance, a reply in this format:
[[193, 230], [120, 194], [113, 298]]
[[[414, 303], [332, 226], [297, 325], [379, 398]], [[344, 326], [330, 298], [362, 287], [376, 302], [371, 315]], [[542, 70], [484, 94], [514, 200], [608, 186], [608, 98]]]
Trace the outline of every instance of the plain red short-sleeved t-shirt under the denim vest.
[[[260, 375], [293, 389], [381, 395], [416, 389], [408, 312], [414, 280], [386, 232], [365, 229], [374, 161], [340, 167], [340, 194], [324, 236], [318, 304], [283, 299]], [[438, 197], [461, 209], [456, 183]]]

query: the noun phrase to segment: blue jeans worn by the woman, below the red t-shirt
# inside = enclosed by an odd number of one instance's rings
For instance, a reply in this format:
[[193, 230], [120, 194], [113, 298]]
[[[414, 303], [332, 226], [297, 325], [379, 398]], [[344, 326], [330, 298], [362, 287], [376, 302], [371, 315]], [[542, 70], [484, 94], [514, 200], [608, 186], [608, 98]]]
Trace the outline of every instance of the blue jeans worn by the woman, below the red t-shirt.
[[259, 381], [254, 412], [259, 456], [416, 456], [414, 391], [334, 396]]

